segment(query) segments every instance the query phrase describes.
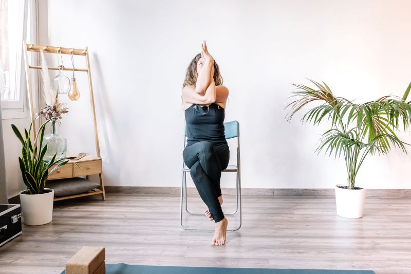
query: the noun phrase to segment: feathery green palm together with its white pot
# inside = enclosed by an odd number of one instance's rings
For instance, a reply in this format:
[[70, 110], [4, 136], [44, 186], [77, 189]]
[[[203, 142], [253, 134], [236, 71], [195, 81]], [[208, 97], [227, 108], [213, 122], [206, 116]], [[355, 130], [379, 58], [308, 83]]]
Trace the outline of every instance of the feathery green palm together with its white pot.
[[396, 132], [403, 127], [408, 129], [411, 123], [411, 102], [406, 102], [411, 83], [402, 98], [384, 96], [363, 104], [351, 102], [342, 97], [335, 97], [331, 89], [310, 80], [315, 88], [293, 84], [297, 90], [291, 97], [296, 100], [287, 105], [291, 110], [288, 121], [294, 114], [310, 102], [322, 102], [309, 109], [302, 121], [319, 124], [330, 123], [320, 140], [316, 152], [325, 150], [334, 158], [344, 156], [347, 184], [335, 186], [337, 214], [347, 218], [363, 216], [365, 189], [356, 186], [356, 177], [367, 155], [387, 154], [391, 148], [398, 147], [406, 153], [405, 145]]

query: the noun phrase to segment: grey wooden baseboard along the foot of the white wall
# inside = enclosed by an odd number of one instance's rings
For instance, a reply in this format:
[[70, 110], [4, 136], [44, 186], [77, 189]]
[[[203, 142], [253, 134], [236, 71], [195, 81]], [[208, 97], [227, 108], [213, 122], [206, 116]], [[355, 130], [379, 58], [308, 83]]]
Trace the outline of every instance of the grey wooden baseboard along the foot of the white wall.
[[[180, 194], [179, 187], [105, 187], [106, 193], [124, 194]], [[226, 195], [235, 195], [235, 188], [221, 188]], [[195, 187], [187, 188], [188, 194], [197, 194]], [[263, 196], [334, 196], [334, 189], [269, 189], [242, 188], [241, 195]], [[367, 196], [411, 196], [411, 189], [367, 189]]]

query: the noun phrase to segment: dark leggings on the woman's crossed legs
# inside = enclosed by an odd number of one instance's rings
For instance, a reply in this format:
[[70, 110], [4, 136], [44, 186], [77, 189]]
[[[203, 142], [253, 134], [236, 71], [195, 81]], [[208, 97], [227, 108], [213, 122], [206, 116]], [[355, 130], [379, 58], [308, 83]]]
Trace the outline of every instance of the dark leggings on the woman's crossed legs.
[[185, 165], [190, 169], [191, 178], [203, 202], [208, 206], [214, 222], [224, 218], [218, 197], [221, 196], [221, 171], [225, 170], [230, 160], [227, 144], [213, 145], [201, 141], [184, 148]]

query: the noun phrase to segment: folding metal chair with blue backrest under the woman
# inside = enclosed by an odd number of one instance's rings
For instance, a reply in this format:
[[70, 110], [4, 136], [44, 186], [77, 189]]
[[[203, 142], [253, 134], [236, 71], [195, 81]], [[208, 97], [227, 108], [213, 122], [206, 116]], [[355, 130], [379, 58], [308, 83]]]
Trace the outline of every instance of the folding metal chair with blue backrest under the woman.
[[[230, 121], [224, 123], [225, 127], [225, 136], [226, 139], [231, 139], [237, 137], [237, 163], [236, 165], [229, 165], [227, 169], [222, 172], [236, 172], [236, 209], [232, 213], [224, 213], [224, 215], [233, 216], [238, 212], [238, 227], [230, 229], [227, 231], [235, 231], [241, 227], [241, 168], [240, 168], [240, 125], [238, 121]], [[184, 130], [184, 148], [187, 140], [187, 128]], [[180, 197], [180, 226], [185, 230], [214, 230], [211, 228], [188, 228], [183, 225], [182, 215], [183, 215], [183, 200], [185, 200], [185, 212], [190, 215], [204, 215], [200, 212], [191, 212], [187, 206], [187, 178], [186, 173], [190, 172], [190, 169], [185, 165], [183, 160], [183, 169], [182, 169], [182, 184], [181, 184], [181, 197]]]

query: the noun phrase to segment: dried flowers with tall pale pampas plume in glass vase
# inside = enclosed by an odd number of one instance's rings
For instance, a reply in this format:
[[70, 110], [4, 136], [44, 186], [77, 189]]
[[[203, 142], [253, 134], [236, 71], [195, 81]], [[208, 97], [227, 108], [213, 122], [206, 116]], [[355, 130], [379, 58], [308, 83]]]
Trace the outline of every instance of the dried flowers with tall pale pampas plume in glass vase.
[[44, 57], [43, 50], [40, 50], [41, 55], [41, 75], [42, 75], [42, 93], [46, 102], [46, 107], [42, 107], [40, 113], [35, 114], [35, 118], [44, 116], [46, 119], [53, 119], [52, 123], [58, 122], [62, 119], [63, 113], [68, 113], [68, 108], [64, 106], [64, 102], [59, 101], [58, 93], [51, 87], [50, 76], [48, 74], [48, 68], [46, 58]]

